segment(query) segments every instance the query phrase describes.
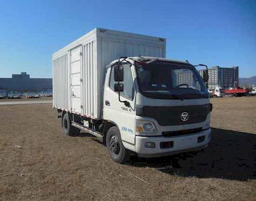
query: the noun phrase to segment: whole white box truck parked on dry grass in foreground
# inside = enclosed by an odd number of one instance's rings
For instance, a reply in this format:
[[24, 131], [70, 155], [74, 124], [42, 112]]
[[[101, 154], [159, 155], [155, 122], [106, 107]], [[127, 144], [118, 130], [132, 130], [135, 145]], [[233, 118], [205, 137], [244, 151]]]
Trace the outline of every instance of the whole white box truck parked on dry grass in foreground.
[[[168, 60], [166, 39], [96, 28], [52, 56], [53, 107], [66, 135], [101, 137], [114, 161], [203, 149], [210, 111], [189, 62]], [[201, 64], [202, 66], [202, 64]]]

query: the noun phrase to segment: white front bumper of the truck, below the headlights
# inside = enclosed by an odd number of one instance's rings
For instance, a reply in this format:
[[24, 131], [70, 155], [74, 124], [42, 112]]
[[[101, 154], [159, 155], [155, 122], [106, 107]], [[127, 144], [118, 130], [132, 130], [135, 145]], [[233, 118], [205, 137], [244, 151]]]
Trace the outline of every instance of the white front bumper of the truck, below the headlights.
[[[206, 129], [198, 133], [182, 135], [176, 137], [135, 137], [135, 151], [140, 157], [159, 157], [163, 155], [173, 155], [178, 152], [186, 152], [194, 149], [202, 149], [210, 142], [211, 129]], [[204, 136], [203, 141], [198, 141], [198, 137]], [[162, 148], [161, 143], [172, 141], [172, 147]], [[145, 143], [155, 143], [155, 148], [145, 147]]]

